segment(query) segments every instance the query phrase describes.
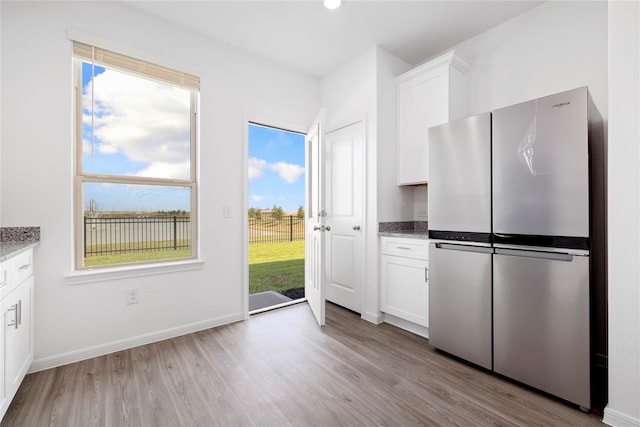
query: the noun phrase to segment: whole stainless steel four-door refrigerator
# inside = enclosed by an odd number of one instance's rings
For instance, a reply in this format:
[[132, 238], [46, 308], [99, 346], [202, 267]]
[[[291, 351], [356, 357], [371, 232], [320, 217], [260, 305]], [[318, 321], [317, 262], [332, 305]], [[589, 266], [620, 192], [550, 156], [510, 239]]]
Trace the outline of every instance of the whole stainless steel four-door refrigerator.
[[[584, 408], [592, 406], [594, 297], [605, 269], [601, 129], [579, 88], [429, 133], [430, 343]], [[487, 151], [489, 166], [473, 167]], [[482, 218], [483, 231], [461, 217]], [[489, 243], [478, 242], [487, 217]], [[482, 267], [452, 246], [482, 247]], [[470, 327], [482, 328], [481, 342], [468, 340]], [[481, 362], [467, 357], [480, 353]]]

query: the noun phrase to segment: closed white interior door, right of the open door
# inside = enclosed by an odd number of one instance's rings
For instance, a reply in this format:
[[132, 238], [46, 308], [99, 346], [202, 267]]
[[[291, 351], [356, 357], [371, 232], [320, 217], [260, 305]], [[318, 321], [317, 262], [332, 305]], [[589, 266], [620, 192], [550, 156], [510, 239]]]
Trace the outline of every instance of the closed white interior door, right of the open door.
[[326, 298], [361, 312], [364, 123], [326, 135]]

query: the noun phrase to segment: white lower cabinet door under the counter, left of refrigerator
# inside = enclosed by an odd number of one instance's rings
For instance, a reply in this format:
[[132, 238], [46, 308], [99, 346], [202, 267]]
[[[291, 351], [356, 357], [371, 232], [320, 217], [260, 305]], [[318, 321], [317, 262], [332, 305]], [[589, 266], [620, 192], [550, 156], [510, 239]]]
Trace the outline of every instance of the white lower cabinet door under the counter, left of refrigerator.
[[383, 255], [382, 311], [429, 326], [427, 261]]

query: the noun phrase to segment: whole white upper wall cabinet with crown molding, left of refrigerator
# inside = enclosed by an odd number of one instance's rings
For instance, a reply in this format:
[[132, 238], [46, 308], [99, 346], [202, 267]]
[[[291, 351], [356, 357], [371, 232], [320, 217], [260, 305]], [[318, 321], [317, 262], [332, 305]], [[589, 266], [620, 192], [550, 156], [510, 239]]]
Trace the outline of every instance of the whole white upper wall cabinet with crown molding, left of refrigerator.
[[468, 114], [469, 67], [451, 51], [396, 78], [398, 185], [429, 180], [428, 129]]

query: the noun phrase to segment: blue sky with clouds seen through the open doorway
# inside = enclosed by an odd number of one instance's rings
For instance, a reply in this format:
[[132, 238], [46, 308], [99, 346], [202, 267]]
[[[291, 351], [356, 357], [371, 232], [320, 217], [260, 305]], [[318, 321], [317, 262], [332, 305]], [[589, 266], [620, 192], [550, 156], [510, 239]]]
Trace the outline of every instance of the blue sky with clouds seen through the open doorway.
[[304, 135], [249, 125], [249, 207], [304, 206]]

